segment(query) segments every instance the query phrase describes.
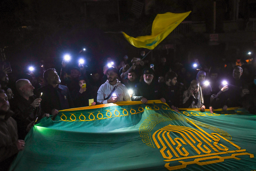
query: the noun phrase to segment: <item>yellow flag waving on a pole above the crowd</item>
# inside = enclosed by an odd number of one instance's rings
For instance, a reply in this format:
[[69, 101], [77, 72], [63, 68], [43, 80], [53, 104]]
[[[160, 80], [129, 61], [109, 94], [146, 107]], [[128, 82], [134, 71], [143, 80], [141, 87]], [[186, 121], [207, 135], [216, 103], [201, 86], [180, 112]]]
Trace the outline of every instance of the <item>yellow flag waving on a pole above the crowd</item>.
[[166, 38], [189, 14], [191, 11], [184, 13], [158, 14], [152, 25], [150, 36], [130, 37], [122, 32], [127, 41], [137, 48], [154, 49], [162, 40]]

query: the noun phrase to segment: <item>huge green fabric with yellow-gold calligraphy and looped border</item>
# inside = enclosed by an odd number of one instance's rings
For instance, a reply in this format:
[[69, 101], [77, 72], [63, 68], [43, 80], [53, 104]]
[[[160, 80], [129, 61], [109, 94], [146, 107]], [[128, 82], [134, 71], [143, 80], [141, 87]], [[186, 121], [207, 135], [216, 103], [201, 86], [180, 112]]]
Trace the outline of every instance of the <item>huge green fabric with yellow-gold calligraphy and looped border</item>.
[[[154, 103], [155, 102], [155, 103]], [[28, 133], [14, 171], [256, 169], [256, 117], [122, 102], [60, 111]]]

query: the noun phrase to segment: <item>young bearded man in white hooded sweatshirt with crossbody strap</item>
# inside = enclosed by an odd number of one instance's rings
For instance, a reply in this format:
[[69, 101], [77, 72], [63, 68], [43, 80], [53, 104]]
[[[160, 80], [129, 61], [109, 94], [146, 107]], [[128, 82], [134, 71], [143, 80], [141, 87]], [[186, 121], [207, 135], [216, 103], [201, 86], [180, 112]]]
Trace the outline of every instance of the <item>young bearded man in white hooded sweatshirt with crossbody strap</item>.
[[97, 103], [106, 104], [117, 101], [131, 101], [130, 95], [125, 85], [117, 79], [117, 69], [110, 67], [107, 69], [107, 81], [100, 86], [97, 92]]

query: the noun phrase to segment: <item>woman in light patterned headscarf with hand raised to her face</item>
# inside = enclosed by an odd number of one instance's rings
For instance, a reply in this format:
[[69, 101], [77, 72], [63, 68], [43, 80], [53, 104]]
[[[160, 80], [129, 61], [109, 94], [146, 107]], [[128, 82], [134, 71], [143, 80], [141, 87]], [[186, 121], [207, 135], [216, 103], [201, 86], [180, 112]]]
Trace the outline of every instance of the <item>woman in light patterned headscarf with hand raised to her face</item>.
[[[204, 99], [200, 82], [198, 80], [192, 80], [190, 87], [183, 93], [183, 107], [184, 108], [200, 108], [201, 112], [204, 112]], [[213, 108], [210, 107], [210, 113], [213, 113]]]

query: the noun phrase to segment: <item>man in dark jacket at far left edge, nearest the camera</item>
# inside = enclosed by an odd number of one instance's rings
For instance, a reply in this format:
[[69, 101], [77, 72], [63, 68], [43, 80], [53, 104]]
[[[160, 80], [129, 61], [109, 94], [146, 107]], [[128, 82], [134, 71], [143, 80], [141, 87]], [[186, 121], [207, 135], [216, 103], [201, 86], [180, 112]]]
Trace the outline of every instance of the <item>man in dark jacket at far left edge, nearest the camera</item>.
[[9, 101], [4, 90], [0, 90], [0, 170], [7, 171], [16, 154], [24, 149], [25, 142], [18, 140], [17, 124], [11, 117]]

